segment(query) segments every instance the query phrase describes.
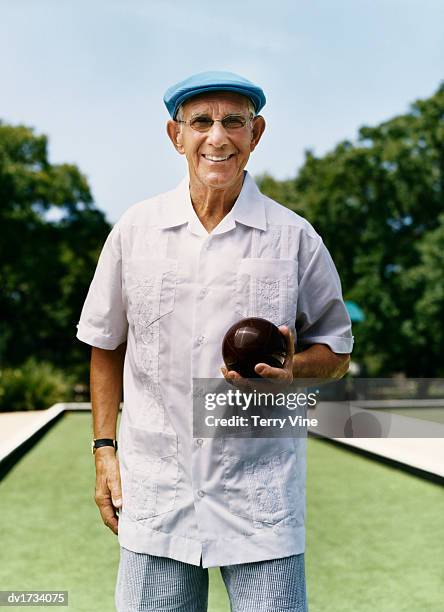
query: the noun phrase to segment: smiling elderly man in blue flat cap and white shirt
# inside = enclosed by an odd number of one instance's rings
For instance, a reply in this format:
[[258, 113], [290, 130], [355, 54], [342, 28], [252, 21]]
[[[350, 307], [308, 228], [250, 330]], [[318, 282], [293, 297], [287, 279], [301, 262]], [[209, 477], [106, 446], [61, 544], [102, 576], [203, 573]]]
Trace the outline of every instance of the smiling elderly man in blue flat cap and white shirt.
[[114, 226], [77, 333], [93, 347], [95, 499], [121, 547], [116, 606], [206, 610], [218, 566], [232, 610], [306, 610], [306, 441], [193, 438], [193, 380], [238, 384], [221, 342], [246, 316], [281, 326], [290, 348], [283, 369], [257, 364], [261, 377], [343, 376], [340, 281], [311, 225], [244, 170], [265, 129], [262, 89], [208, 72], [164, 101], [188, 175]]

